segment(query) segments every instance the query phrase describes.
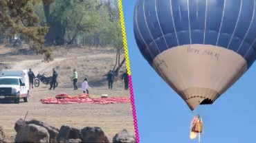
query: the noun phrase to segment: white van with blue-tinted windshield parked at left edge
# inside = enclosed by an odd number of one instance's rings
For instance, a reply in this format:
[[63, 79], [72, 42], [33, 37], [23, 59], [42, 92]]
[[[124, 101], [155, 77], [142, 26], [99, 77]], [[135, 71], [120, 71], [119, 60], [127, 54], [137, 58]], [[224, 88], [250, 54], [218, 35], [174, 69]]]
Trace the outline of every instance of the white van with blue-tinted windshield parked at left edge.
[[14, 100], [19, 104], [21, 98], [28, 102], [29, 79], [28, 71], [3, 69], [0, 75], [0, 101]]

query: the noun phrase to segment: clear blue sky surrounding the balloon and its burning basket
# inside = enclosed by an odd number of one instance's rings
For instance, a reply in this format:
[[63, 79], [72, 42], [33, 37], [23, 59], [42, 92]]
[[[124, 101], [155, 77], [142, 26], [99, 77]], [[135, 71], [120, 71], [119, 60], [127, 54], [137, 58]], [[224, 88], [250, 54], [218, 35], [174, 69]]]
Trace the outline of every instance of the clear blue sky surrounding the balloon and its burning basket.
[[201, 142], [256, 142], [256, 65], [214, 104], [190, 111], [187, 104], [145, 61], [134, 39], [136, 0], [122, 0], [134, 86], [140, 142], [198, 142], [190, 140], [190, 122], [203, 118]]

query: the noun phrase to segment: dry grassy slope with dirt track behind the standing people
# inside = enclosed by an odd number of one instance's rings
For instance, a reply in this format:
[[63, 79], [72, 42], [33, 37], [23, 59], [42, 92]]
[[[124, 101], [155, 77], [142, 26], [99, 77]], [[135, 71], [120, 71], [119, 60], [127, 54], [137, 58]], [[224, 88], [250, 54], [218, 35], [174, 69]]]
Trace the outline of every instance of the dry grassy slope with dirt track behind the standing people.
[[[53, 50], [55, 59], [50, 63], [43, 63], [41, 55], [24, 55], [24, 53], [15, 55], [3, 54], [0, 61], [19, 61], [21, 63], [5, 64], [2, 65], [2, 68], [5, 66], [11, 69], [31, 68], [35, 75], [40, 72], [45, 73], [46, 76], [51, 76], [52, 69], [55, 68], [59, 73], [58, 82], [62, 84], [71, 83], [73, 69], [76, 69], [79, 76], [78, 84], [81, 84], [82, 80], [87, 78], [93, 86], [105, 85], [106, 77], [104, 74], [107, 74], [116, 62], [116, 52], [110, 47], [75, 47], [70, 49], [66, 47], [53, 47]], [[124, 58], [123, 54], [121, 58]], [[125, 71], [125, 64], [120, 71]]]

